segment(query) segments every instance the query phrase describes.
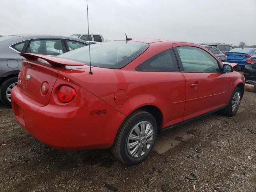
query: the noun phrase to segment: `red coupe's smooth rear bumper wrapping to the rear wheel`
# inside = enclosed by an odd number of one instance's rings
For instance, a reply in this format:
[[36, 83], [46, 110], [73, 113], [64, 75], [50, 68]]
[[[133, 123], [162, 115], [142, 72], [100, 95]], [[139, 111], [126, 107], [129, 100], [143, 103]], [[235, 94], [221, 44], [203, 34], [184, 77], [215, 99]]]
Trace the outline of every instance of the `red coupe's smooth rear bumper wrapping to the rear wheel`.
[[[38, 140], [61, 150], [109, 148], [126, 116], [98, 97], [80, 89], [81, 98], [69, 104], [44, 106], [12, 89], [12, 108], [22, 127]], [[106, 114], [90, 115], [90, 111], [106, 109]], [[114, 118], [113, 118], [114, 117]]]

